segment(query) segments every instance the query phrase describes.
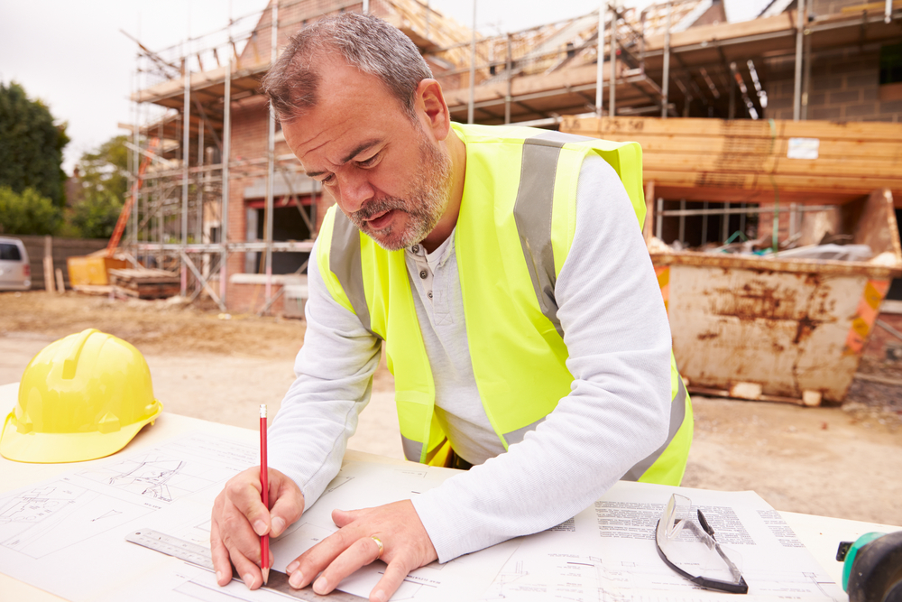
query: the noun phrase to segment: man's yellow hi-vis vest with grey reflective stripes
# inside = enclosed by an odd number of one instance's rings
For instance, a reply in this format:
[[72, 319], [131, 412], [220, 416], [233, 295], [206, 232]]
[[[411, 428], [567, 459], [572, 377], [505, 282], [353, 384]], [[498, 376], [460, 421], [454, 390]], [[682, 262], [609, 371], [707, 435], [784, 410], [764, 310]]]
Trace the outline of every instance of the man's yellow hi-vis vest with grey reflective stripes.
[[[504, 449], [570, 393], [573, 375], [557, 320], [555, 282], [573, 242], [576, 182], [597, 153], [620, 175], [641, 224], [641, 149], [526, 127], [453, 124], [466, 144], [455, 252], [466, 334], [483, 409]], [[419, 329], [404, 250], [386, 251], [330, 208], [317, 261], [332, 298], [385, 341], [404, 454], [441, 465], [450, 446]], [[623, 476], [679, 485], [692, 441], [692, 406], [671, 353], [667, 441]]]

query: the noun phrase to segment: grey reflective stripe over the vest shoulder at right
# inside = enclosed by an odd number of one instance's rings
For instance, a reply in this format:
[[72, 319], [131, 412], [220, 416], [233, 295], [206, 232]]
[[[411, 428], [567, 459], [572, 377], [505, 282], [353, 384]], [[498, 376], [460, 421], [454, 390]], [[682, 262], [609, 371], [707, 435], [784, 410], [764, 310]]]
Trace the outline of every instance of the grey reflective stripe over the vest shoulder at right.
[[[564, 338], [557, 320], [555, 256], [551, 247], [551, 211], [555, 197], [557, 157], [566, 143], [594, 140], [584, 136], [547, 132], [523, 141], [520, 188], [513, 217], [520, 233], [523, 257], [536, 291], [538, 307]], [[505, 439], [507, 436], [505, 435]]]

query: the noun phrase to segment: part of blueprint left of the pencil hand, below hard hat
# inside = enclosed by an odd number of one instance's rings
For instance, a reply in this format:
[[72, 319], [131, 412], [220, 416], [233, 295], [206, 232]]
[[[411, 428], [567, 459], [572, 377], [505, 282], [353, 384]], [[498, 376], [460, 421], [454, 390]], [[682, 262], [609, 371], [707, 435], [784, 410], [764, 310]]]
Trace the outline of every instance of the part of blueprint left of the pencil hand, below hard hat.
[[169, 564], [124, 542], [135, 528], [195, 533], [208, 546], [203, 527], [208, 530], [213, 500], [227, 479], [256, 462], [253, 445], [198, 434], [73, 465], [86, 468], [6, 492], [0, 495], [0, 566], [60, 597], [100, 597], [117, 580], [98, 579], [101, 574], [128, 583], [155, 564]]

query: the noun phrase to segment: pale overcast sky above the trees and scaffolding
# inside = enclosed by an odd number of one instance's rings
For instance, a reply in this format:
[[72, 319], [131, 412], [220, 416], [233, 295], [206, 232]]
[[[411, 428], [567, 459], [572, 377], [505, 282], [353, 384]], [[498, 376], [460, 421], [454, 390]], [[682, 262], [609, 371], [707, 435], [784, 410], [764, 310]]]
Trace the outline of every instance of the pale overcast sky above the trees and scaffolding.
[[[599, 0], [478, 0], [477, 30], [512, 32], [593, 11]], [[41, 98], [72, 142], [64, 169], [132, 120], [136, 46], [154, 51], [225, 27], [229, 15], [262, 11], [266, 0], [6, 0], [0, 3], [0, 80]], [[648, 4], [634, 0], [628, 4]], [[437, 11], [470, 25], [468, 0], [431, 0]]]

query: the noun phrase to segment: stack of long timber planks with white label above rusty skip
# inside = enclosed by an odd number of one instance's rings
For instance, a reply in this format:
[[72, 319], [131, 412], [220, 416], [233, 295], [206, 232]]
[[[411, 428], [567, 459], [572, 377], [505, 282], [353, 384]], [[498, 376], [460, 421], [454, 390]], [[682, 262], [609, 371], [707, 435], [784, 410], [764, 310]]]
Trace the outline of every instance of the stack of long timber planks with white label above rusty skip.
[[655, 197], [844, 204], [888, 189], [902, 208], [902, 124], [566, 117], [560, 129], [638, 142]]

